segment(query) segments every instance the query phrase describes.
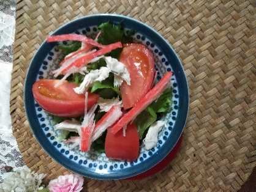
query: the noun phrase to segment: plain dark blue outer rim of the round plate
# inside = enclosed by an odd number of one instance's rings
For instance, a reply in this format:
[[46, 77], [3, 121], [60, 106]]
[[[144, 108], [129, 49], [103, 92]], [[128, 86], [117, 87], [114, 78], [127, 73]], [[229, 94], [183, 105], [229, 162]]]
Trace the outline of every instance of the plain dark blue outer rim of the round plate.
[[[132, 21], [134, 23], [138, 23], [138, 26], [141, 26], [143, 28], [146, 28], [146, 29], [149, 29], [149, 31], [151, 31], [152, 33], [154, 33], [154, 35], [157, 35], [158, 38], [160, 38], [162, 41], [165, 42], [165, 45], [168, 46], [169, 49], [171, 49], [172, 51], [172, 54], [175, 55], [176, 57], [176, 60], [179, 62], [179, 67], [181, 67], [182, 71], [180, 73], [183, 72], [184, 74], [184, 77], [185, 77], [185, 81], [186, 81], [186, 87], [187, 87], [187, 92], [185, 93], [185, 98], [187, 100], [186, 104], [185, 104], [185, 107], [186, 107], [186, 111], [187, 111], [187, 114], [186, 114], [186, 118], [183, 119], [183, 125], [182, 125], [182, 129], [179, 130], [179, 136], [178, 136], [178, 139], [176, 142], [178, 142], [179, 138], [181, 137], [181, 134], [183, 133], [183, 130], [185, 128], [185, 125], [186, 125], [186, 122], [187, 122], [187, 117], [188, 117], [188, 114], [189, 114], [189, 86], [188, 86], [188, 83], [187, 83], [187, 76], [186, 76], [186, 73], [184, 71], [184, 68], [183, 68], [183, 65], [178, 57], [178, 54], [175, 52], [175, 50], [172, 48], [172, 46], [170, 45], [170, 43], [167, 42], [167, 40], [164, 39], [164, 37], [162, 37], [162, 35], [159, 34], [159, 32], [157, 32], [156, 30], [154, 30], [153, 28], [151, 28], [150, 26], [148, 26], [147, 24], [145, 23], [142, 23], [141, 21], [138, 21], [138, 20], [135, 20], [134, 18], [131, 18], [131, 17], [127, 17], [127, 16], [124, 16], [124, 15], [116, 15], [116, 14], [108, 14], [108, 13], [103, 13], [103, 14], [94, 14], [94, 15], [86, 15], [84, 17], [80, 17], [80, 18], [77, 18], [75, 20], [72, 20], [72, 21], [69, 21], [68, 23], [62, 25], [60, 28], [56, 29], [52, 34], [50, 35], [56, 35], [56, 34], [59, 34], [61, 32], [62, 33], [62, 30], [66, 29], [67, 26], [69, 26], [70, 24], [72, 23], [79, 23], [83, 20], [88, 20], [90, 18], [95, 18], [95, 17], [110, 17], [110, 18], [115, 18], [115, 20], [129, 20], [129, 21]], [[104, 21], [102, 21], [103, 23]], [[85, 26], [86, 27], [86, 26]], [[85, 28], [84, 27], [84, 28]], [[78, 28], [78, 29], [81, 29], [81, 28]], [[72, 32], [75, 32], [75, 30], [78, 30], [78, 29], [72, 29]], [[69, 32], [67, 32], [69, 33]], [[28, 122], [29, 122], [29, 126], [34, 134], [34, 136], [36, 137], [37, 141], [39, 142], [40, 146], [45, 150], [45, 152], [47, 152], [51, 158], [53, 158], [56, 162], [58, 162], [59, 164], [61, 164], [62, 166], [64, 166], [65, 168], [69, 169], [70, 171], [73, 171], [74, 169], [70, 169], [69, 166], [67, 166], [67, 164], [69, 163], [63, 163], [63, 162], [60, 162], [59, 161], [59, 158], [56, 158], [56, 155], [54, 154], [55, 151], [59, 152], [58, 150], [54, 149], [53, 152], [49, 151], [48, 150], [48, 147], [47, 146], [43, 146], [42, 143], [42, 139], [36, 134], [37, 131], [34, 130], [33, 125], [35, 125], [35, 122], [33, 119], [31, 119], [31, 116], [29, 116], [29, 114], [32, 113], [32, 110], [29, 108], [28, 105], [26, 105], [26, 103], [28, 103], [28, 97], [29, 95], [31, 95], [31, 92], [32, 92], [32, 86], [31, 86], [31, 82], [28, 81], [29, 79], [29, 74], [31, 74], [31, 71], [34, 70], [35, 66], [32, 65], [34, 64], [35, 62], [35, 58], [38, 57], [39, 55], [39, 51], [40, 49], [42, 49], [42, 47], [44, 48], [46, 46], [46, 48], [48, 47], [53, 47], [55, 46], [55, 43], [52, 43], [50, 45], [50, 43], [47, 43], [46, 40], [43, 41], [43, 43], [39, 46], [39, 48], [37, 49], [36, 53], [34, 54], [34, 56], [32, 57], [31, 59], [31, 62], [29, 64], [29, 67], [28, 67], [28, 71], [26, 73], [26, 79], [25, 79], [25, 83], [24, 83], [24, 106], [25, 106], [25, 111], [26, 111], [26, 116], [27, 116], [27, 119], [28, 119]], [[47, 53], [48, 54], [48, 53]], [[47, 56], [47, 54], [45, 55], [45, 57]], [[39, 56], [39, 57], [42, 57], [42, 56]], [[45, 57], [43, 57], [43, 59], [45, 59]], [[167, 57], [167, 56], [166, 56]], [[171, 66], [172, 67], [172, 66]], [[30, 73], [29, 73], [30, 72]], [[31, 78], [30, 78], [31, 79]], [[26, 91], [28, 89], [28, 87], [31, 87], [30, 89], [30, 92], [29, 91]], [[34, 97], [33, 97], [34, 98]], [[26, 102], [27, 101], [27, 102]], [[34, 110], [34, 112], [36, 113], [36, 111]], [[176, 123], [175, 123], [176, 124]], [[176, 145], [176, 142], [175, 144], [173, 144], [173, 147]], [[166, 142], [163, 144], [163, 146], [161, 147], [161, 149], [165, 146]], [[164, 155], [161, 156], [161, 158], [158, 158], [158, 160], [154, 160], [154, 163], [150, 163], [148, 162], [150, 165], [148, 166], [148, 168], [144, 168], [143, 170], [141, 170], [140, 172], [134, 174], [134, 173], [131, 173], [131, 174], [119, 174], [119, 175], [116, 175], [116, 174], [99, 174], [99, 173], [96, 173], [96, 172], [86, 172], [85, 171], [79, 171], [80, 168], [78, 167], [78, 170], [75, 170], [73, 172], [76, 172], [77, 174], [80, 174], [80, 175], [83, 175], [85, 177], [89, 177], [89, 178], [92, 178], [92, 179], [100, 179], [100, 180], [113, 180], [113, 179], [125, 179], [125, 178], [129, 178], [129, 177], [132, 177], [132, 176], [135, 176], [135, 175], [138, 175], [138, 174], [141, 174], [142, 172], [145, 172], [147, 171], [148, 169], [151, 169], [152, 167], [154, 167], [157, 163], [160, 163], [160, 161], [162, 161], [167, 155], [168, 153], [173, 149], [173, 147], [164, 147], [165, 149], [162, 149], [160, 152], [163, 152]], [[167, 150], [168, 148], [168, 150]], [[150, 158], [149, 158], [150, 159]], [[148, 160], [148, 159], [147, 159]], [[147, 161], [146, 160], [146, 161]], [[146, 162], [145, 161], [145, 162]], [[154, 165], [152, 165], [154, 164]], [[76, 168], [77, 166], [75, 166]], [[91, 173], [91, 174], [90, 174]]]

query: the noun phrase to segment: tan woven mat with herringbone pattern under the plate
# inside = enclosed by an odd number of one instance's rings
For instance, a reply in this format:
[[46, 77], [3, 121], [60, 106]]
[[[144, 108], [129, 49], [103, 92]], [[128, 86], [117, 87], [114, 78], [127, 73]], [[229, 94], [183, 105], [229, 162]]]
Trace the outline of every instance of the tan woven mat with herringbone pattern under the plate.
[[17, 1], [10, 95], [13, 132], [25, 163], [68, 174], [40, 147], [24, 111], [32, 56], [55, 29], [94, 13], [143, 21], [178, 53], [189, 82], [189, 118], [176, 158], [142, 180], [85, 179], [85, 191], [237, 191], [256, 165], [256, 3], [254, 0]]

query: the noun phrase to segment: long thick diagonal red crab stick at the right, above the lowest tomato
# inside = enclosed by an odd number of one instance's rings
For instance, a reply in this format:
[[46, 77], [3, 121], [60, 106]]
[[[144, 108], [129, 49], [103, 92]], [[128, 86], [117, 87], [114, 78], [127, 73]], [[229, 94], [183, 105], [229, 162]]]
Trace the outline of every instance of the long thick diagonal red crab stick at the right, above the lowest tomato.
[[149, 92], [145, 95], [145, 97], [141, 98], [138, 103], [130, 109], [121, 119], [116, 122], [115, 125], [111, 128], [111, 133], [117, 133], [121, 130], [122, 127], [125, 127], [131, 120], [134, 120], [138, 114], [141, 113], [149, 104], [154, 102], [162, 92], [170, 86], [170, 78], [173, 75], [171, 72], [165, 73], [165, 75], [160, 79], [160, 81], [154, 86]]

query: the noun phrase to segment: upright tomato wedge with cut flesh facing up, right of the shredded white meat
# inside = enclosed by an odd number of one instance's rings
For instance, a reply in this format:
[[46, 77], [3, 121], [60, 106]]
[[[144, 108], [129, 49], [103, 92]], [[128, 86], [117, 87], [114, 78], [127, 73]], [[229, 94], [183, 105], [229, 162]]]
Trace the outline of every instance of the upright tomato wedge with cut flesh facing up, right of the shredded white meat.
[[124, 81], [120, 86], [122, 105], [129, 109], [136, 105], [151, 88], [154, 79], [154, 57], [141, 44], [125, 44], [119, 61], [130, 73], [130, 86]]

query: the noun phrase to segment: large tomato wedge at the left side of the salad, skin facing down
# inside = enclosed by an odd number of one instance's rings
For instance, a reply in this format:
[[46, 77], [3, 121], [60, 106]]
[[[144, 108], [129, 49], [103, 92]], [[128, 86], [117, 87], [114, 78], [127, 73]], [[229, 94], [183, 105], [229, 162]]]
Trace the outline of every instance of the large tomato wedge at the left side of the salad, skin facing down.
[[[85, 114], [85, 95], [77, 94], [73, 88], [77, 84], [64, 81], [54, 87], [59, 80], [40, 79], [34, 83], [32, 92], [36, 102], [48, 113], [61, 117], [78, 117]], [[88, 109], [99, 99], [97, 94], [88, 94]]]

